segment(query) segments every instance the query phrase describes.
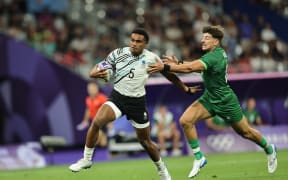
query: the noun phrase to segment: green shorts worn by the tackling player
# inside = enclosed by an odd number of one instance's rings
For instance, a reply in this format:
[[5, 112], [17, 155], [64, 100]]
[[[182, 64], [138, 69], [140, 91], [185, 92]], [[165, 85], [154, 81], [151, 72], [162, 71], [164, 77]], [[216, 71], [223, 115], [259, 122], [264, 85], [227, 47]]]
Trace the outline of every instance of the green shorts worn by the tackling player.
[[232, 93], [229, 98], [220, 103], [211, 103], [209, 97], [203, 94], [198, 101], [212, 115], [218, 115], [228, 124], [239, 122], [243, 117], [243, 112], [239, 104], [237, 96]]

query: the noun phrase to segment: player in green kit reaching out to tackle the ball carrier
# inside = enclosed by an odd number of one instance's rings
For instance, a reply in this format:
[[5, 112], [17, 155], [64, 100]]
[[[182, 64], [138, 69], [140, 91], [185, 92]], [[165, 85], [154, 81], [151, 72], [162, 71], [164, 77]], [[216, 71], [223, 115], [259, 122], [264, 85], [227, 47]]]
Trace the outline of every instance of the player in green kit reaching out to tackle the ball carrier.
[[227, 55], [221, 47], [222, 27], [207, 26], [202, 33], [202, 50], [205, 52], [202, 57], [186, 62], [178, 61], [175, 56], [164, 56], [165, 64], [151, 64], [148, 69], [149, 73], [202, 73], [205, 91], [180, 117], [180, 124], [194, 154], [193, 168], [188, 177], [196, 176], [207, 164], [199, 147], [195, 123], [215, 115], [222, 117], [240, 136], [261, 146], [268, 157], [268, 172], [274, 173], [277, 168], [275, 145], [267, 143], [261, 133], [247, 123], [238, 98], [227, 83]]

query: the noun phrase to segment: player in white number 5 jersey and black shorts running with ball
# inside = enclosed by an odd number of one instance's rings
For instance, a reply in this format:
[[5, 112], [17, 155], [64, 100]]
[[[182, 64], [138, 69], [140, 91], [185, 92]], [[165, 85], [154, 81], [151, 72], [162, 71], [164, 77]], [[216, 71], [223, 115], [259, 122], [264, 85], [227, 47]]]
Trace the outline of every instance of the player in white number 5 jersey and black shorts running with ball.
[[[153, 52], [145, 49], [149, 36], [144, 29], [137, 28], [131, 33], [130, 47], [112, 51], [104, 61], [114, 71], [114, 88], [108, 101], [103, 104], [91, 124], [86, 137], [83, 158], [70, 165], [69, 169], [78, 172], [92, 166], [92, 156], [99, 130], [105, 124], [126, 115], [135, 128], [138, 141], [154, 162], [161, 180], [170, 180], [171, 176], [159, 155], [157, 145], [150, 139], [150, 124], [146, 108], [145, 84], [149, 74], [148, 65], [161, 61]], [[188, 87], [173, 73], [161, 72], [169, 81], [188, 94], [201, 90], [199, 86]], [[105, 78], [107, 71], [99, 70], [98, 64], [90, 72], [92, 78]]]

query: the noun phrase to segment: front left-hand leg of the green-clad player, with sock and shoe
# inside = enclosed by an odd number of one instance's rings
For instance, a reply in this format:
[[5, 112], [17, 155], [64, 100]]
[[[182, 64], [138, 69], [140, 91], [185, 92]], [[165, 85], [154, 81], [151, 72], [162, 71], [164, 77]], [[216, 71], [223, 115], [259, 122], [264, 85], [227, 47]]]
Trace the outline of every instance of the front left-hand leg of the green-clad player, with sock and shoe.
[[189, 178], [196, 176], [200, 169], [207, 164], [207, 160], [200, 150], [195, 123], [210, 116], [203, 105], [196, 101], [185, 110], [180, 118], [180, 124], [194, 154], [193, 168], [188, 175]]

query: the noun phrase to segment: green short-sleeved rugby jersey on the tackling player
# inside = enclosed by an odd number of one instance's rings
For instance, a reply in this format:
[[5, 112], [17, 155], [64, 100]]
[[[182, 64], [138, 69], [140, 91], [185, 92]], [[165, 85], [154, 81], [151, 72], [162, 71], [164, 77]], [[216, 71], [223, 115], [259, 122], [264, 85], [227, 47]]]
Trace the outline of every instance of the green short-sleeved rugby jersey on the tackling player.
[[204, 95], [211, 103], [227, 100], [233, 94], [227, 83], [227, 55], [219, 45], [213, 51], [204, 54], [200, 61], [205, 65], [202, 79], [205, 86]]

